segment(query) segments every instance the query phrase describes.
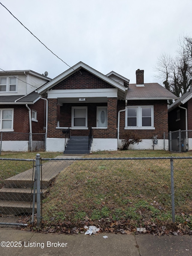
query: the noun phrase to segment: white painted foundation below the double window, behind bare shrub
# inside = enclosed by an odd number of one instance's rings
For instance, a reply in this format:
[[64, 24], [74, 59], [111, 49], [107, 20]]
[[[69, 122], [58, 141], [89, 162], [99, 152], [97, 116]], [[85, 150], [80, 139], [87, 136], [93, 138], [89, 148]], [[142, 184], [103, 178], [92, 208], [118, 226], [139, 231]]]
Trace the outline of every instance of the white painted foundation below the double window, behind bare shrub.
[[[122, 140], [118, 140], [118, 148], [122, 148]], [[139, 144], [130, 145], [129, 149], [144, 150], [144, 149], [153, 149], [153, 140], [152, 139], [143, 139]], [[164, 149], [164, 140], [158, 139], [158, 144], [154, 145], [154, 150], [163, 150]], [[169, 141], [165, 140], [165, 150], [169, 150]]]

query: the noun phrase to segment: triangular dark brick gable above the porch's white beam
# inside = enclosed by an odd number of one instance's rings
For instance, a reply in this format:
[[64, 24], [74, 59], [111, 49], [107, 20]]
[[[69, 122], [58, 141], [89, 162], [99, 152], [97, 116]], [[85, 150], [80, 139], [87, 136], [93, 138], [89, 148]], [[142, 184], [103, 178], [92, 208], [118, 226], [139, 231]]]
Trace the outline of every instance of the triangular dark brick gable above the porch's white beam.
[[[81, 72], [81, 73], [80, 73]], [[89, 73], [84, 69], [80, 69], [80, 72], [75, 72], [62, 82], [55, 85], [52, 89], [104, 89], [114, 88], [112, 85], [104, 82], [97, 76]]]

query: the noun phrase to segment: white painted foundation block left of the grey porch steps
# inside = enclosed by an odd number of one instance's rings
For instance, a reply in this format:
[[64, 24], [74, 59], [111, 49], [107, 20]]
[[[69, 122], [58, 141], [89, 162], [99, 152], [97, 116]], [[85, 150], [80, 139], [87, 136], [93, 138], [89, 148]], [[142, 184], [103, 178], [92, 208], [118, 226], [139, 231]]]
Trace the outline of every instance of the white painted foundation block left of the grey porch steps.
[[46, 151], [47, 152], [63, 152], [65, 139], [60, 138], [47, 138]]

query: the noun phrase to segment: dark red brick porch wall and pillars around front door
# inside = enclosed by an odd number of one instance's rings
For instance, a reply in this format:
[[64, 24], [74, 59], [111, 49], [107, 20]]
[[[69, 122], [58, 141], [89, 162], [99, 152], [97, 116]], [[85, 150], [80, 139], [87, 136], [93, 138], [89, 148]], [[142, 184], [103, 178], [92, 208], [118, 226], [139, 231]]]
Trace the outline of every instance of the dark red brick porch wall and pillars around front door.
[[[107, 106], [107, 129], [94, 129], [94, 138], [116, 138], [117, 133], [117, 99], [108, 98], [108, 102], [101, 103], [64, 103], [60, 107], [60, 127], [71, 127], [71, 109], [72, 107], [87, 107], [88, 128], [97, 126], [97, 107]], [[48, 99], [48, 138], [64, 138], [62, 129], [56, 129], [57, 126], [57, 99]], [[88, 130], [71, 130], [71, 136], [88, 136]]]

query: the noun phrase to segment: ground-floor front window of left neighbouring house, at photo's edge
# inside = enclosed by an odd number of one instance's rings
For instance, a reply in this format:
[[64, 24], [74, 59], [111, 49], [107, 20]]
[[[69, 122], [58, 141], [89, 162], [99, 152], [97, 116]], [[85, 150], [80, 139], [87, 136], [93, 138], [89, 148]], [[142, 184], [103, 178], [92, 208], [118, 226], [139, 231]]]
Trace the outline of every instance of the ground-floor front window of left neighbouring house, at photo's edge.
[[0, 130], [13, 130], [13, 109], [0, 109]]

